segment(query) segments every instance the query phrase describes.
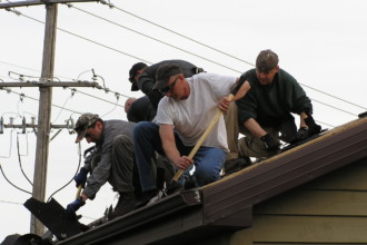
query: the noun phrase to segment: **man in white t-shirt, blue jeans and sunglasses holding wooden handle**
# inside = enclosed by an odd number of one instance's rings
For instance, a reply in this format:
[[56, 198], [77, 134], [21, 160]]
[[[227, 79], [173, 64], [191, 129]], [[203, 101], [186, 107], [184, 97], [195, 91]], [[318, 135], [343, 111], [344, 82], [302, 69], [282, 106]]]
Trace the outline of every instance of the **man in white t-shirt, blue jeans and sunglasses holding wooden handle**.
[[[214, 120], [218, 108], [226, 111], [230, 101], [226, 96], [236, 84], [235, 77], [201, 72], [185, 78], [176, 63], [161, 65], [157, 70], [155, 89], [166, 95], [158, 106], [157, 124], [142, 121], [133, 129], [135, 153], [143, 197], [149, 199], [157, 193], [156, 182], [149, 175], [151, 155], [155, 150], [166, 155], [180, 169], [195, 164], [197, 186], [220, 178], [227, 155], [227, 135], [224, 118], [198, 149], [194, 159], [188, 157], [206, 128]], [[248, 86], [248, 82], [247, 82]], [[242, 85], [235, 99], [245, 95]], [[185, 183], [181, 183], [184, 186]]]

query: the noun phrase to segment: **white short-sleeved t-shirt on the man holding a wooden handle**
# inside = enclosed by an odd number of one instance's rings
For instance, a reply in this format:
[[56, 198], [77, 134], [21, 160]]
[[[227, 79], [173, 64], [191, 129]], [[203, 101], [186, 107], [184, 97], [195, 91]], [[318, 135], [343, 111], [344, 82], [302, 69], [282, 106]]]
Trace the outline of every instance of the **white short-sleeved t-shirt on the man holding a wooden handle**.
[[[173, 125], [186, 146], [195, 146], [218, 112], [219, 98], [229, 95], [235, 77], [198, 74], [186, 78], [190, 95], [185, 100], [163, 97], [157, 111], [157, 124]], [[202, 146], [219, 147], [228, 151], [227, 131], [220, 117]]]

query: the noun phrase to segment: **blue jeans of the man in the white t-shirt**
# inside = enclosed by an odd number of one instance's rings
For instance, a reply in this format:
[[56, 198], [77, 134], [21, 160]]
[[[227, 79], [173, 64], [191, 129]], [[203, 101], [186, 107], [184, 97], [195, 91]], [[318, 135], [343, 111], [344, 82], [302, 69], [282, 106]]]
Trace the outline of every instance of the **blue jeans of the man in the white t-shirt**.
[[[181, 156], [188, 156], [194, 146], [185, 146], [175, 131], [176, 147]], [[135, 156], [139, 170], [142, 192], [157, 189], [156, 179], [150, 174], [151, 158], [155, 151], [165, 155], [159, 136], [159, 125], [150, 121], [140, 121], [133, 129]], [[226, 160], [227, 153], [216, 147], [200, 147], [194, 156], [195, 177], [197, 186], [204, 186], [220, 178], [220, 170]], [[186, 169], [186, 175], [190, 168]], [[179, 183], [185, 184], [185, 178]]]

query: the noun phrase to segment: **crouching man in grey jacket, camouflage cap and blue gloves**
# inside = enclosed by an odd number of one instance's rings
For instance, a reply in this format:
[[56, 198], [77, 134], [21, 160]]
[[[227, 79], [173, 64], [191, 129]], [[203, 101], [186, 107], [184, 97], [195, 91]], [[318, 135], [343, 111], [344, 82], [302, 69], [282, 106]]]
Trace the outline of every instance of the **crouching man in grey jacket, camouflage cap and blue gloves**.
[[[83, 138], [95, 143], [95, 148], [86, 158], [85, 166], [76, 175], [77, 187], [83, 190], [75, 202], [67, 206], [68, 213], [75, 213], [93, 199], [98, 190], [107, 182], [115, 192], [120, 194], [118, 204], [110, 218], [127, 214], [135, 208], [137, 202], [133, 185], [133, 122], [122, 120], [102, 120], [98, 115], [83, 114], [79, 117], [75, 130], [78, 136], [76, 143]], [[89, 176], [88, 176], [89, 174]], [[88, 176], [88, 177], [87, 177]], [[87, 184], [87, 185], [86, 185]]]

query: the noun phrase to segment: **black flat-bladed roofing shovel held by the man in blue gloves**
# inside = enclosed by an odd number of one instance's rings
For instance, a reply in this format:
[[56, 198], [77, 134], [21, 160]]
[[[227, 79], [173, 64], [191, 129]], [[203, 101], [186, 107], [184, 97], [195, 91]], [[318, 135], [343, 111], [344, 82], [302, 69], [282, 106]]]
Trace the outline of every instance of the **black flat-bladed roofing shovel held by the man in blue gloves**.
[[[80, 195], [81, 186], [78, 187], [77, 196]], [[89, 229], [88, 226], [78, 222], [77, 217], [70, 218], [66, 209], [53, 198], [48, 203], [40, 202], [33, 197], [24, 204], [32, 215], [34, 215], [58, 239], [66, 239], [78, 233]]]

